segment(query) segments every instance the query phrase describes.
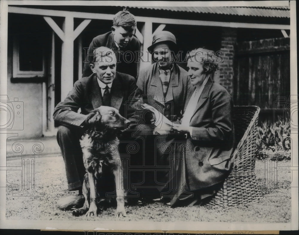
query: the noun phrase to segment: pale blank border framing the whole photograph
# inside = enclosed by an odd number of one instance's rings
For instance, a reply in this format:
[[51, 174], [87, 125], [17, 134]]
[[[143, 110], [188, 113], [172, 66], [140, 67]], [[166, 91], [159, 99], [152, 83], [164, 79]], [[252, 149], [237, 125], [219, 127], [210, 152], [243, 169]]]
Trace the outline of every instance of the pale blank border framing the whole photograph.
[[[88, 2], [88, 5], [127, 5], [127, 6], [149, 6], [153, 2], [150, 1], [92, 1]], [[185, 6], [186, 2], [154, 2], [156, 6]], [[8, 5], [84, 5], [86, 1], [0, 1], [0, 77], [1, 77], [1, 88], [0, 94], [7, 94], [7, 16], [8, 16]], [[273, 5], [288, 5], [288, 1], [208, 1], [208, 2], [188, 2], [188, 5], [193, 6], [273, 6]], [[291, 95], [298, 95], [297, 89], [297, 31], [296, 31], [296, 2], [290, 2], [290, 13], [291, 13], [291, 33], [290, 33], [290, 53], [291, 53]], [[297, 100], [298, 105], [298, 100]], [[6, 123], [5, 113], [0, 113], [0, 119]], [[293, 120], [294, 125], [298, 126], [298, 117]], [[6, 134], [1, 132], [0, 134], [0, 167], [6, 166]], [[294, 130], [291, 130], [291, 138], [295, 144], [292, 149], [292, 166], [297, 166], [298, 168], [298, 135]], [[297, 156], [297, 157], [296, 157]], [[1, 184], [6, 182], [6, 171], [0, 170], [0, 181]], [[292, 222], [291, 223], [232, 223], [232, 222], [151, 222], [151, 221], [142, 221], [142, 222], [123, 222], [115, 221], [111, 222], [101, 222], [101, 221], [47, 221], [47, 220], [10, 220], [6, 219], [6, 190], [5, 187], [0, 188], [0, 197], [1, 197], [1, 211], [0, 211], [0, 227], [1, 228], [10, 228], [10, 229], [46, 229], [49, 228], [58, 228], [59, 230], [91, 230], [94, 228], [102, 228], [105, 230], [98, 230], [102, 232], [107, 232], [108, 229], [111, 232], [119, 231], [128, 231], [128, 232], [140, 232], [140, 231], [151, 231], [151, 232], [161, 232], [161, 231], [172, 231], [176, 233], [180, 232], [196, 232], [200, 233], [201, 231], [213, 231], [217, 228], [219, 231], [231, 231], [231, 230], [250, 230], [250, 231], [263, 231], [271, 229], [272, 231], [278, 230], [298, 230], [298, 170], [292, 171]], [[66, 222], [69, 222], [68, 224]], [[152, 230], [155, 228], [155, 231]], [[192, 229], [190, 229], [192, 228]], [[115, 230], [116, 229], [116, 230]], [[57, 230], [55, 230], [57, 231]]]

